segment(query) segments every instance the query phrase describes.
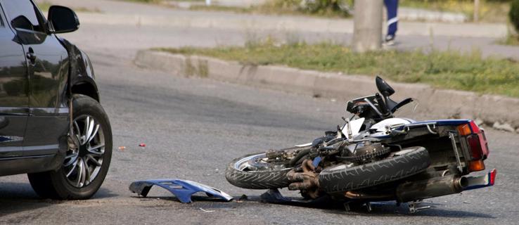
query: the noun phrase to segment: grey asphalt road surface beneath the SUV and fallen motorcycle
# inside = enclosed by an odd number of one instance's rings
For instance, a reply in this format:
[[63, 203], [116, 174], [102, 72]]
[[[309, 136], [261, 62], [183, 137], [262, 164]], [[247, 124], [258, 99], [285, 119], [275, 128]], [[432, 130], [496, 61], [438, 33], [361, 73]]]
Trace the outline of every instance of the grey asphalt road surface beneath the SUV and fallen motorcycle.
[[[409, 214], [405, 204], [396, 207], [394, 203], [373, 205], [370, 213], [345, 212], [340, 207], [271, 205], [259, 203], [263, 191], [231, 186], [225, 180], [224, 170], [233, 158], [312, 141], [340, 124], [345, 108], [342, 101], [169, 75], [136, 68], [132, 63], [136, 49], [153, 44], [239, 44], [245, 39], [240, 35], [216, 28], [164, 31], [153, 27], [88, 24], [68, 34], [71, 41], [89, 53], [96, 69], [101, 103], [113, 127], [110, 172], [94, 198], [83, 201], [41, 200], [25, 175], [0, 177], [0, 224], [516, 224], [519, 221], [519, 188], [515, 184], [519, 172], [516, 165], [519, 136], [492, 129], [487, 129], [491, 153], [485, 163], [487, 169], [498, 169], [496, 186], [426, 200], [432, 208], [416, 214]], [[301, 36], [320, 37], [319, 34]], [[425, 119], [421, 115], [416, 118]], [[139, 147], [139, 143], [146, 143], [146, 148]], [[126, 149], [118, 150], [119, 146]], [[128, 191], [132, 181], [155, 178], [199, 181], [236, 198], [248, 195], [248, 200], [240, 203], [198, 200], [182, 204], [160, 188], [152, 189], [151, 198], [137, 198]]]

